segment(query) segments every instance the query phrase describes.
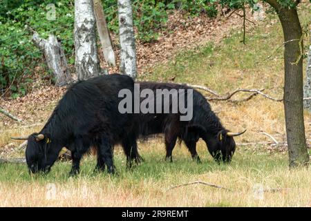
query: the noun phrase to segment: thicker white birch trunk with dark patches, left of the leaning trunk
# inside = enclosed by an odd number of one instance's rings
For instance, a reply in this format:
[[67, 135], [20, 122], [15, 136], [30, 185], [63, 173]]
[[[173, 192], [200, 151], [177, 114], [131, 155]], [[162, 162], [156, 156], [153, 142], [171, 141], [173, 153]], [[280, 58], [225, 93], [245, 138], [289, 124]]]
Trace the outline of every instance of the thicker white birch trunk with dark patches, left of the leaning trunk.
[[75, 0], [75, 71], [79, 80], [100, 75], [93, 0]]

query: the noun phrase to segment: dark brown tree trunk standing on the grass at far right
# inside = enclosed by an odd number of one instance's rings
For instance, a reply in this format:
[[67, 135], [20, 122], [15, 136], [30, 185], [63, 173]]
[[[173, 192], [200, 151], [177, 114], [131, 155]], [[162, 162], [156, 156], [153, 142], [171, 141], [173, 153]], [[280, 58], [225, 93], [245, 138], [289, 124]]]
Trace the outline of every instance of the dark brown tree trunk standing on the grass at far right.
[[266, 0], [276, 9], [283, 28], [285, 50], [284, 108], [290, 167], [307, 165], [308, 148], [303, 121], [303, 43], [296, 8], [281, 6], [276, 0]]

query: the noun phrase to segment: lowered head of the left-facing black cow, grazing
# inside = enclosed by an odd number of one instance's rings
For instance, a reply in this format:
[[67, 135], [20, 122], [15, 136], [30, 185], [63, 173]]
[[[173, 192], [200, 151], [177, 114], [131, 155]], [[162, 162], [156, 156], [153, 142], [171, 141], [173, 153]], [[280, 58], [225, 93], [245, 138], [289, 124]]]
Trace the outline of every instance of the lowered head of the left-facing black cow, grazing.
[[33, 133], [28, 137], [26, 162], [30, 173], [48, 173], [57, 160], [60, 149], [48, 135]]

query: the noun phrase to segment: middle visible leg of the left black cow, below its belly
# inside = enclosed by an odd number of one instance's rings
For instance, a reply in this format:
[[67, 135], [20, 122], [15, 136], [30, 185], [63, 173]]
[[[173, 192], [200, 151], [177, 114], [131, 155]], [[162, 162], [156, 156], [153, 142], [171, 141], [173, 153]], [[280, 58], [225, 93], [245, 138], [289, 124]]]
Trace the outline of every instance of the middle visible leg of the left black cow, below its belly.
[[115, 166], [113, 165], [113, 149], [111, 142], [106, 137], [102, 137], [100, 145], [98, 145], [98, 157], [100, 162], [104, 162], [107, 165], [108, 173], [115, 173]]

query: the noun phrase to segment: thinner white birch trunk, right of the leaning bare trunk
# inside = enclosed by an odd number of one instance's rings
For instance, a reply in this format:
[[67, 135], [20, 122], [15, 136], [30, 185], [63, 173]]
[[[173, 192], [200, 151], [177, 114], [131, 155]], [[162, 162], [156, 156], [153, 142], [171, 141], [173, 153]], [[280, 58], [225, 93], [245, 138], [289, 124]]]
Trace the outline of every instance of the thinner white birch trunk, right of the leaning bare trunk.
[[137, 75], [133, 10], [131, 0], [118, 0], [120, 28], [120, 72], [135, 79]]

